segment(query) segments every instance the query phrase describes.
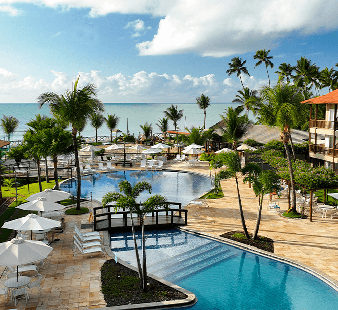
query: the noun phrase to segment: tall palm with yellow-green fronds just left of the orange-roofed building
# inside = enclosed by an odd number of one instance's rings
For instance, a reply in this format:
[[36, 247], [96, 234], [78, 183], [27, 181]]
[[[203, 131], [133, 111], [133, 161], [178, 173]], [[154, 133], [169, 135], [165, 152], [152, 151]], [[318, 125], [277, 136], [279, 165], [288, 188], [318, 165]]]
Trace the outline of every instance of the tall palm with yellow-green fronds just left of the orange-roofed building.
[[281, 129], [280, 139], [284, 144], [290, 172], [292, 211], [297, 212], [294, 172], [288, 142], [290, 141], [293, 150], [290, 127], [294, 128], [299, 123], [299, 115], [303, 108], [300, 104], [302, 94], [299, 87], [279, 80], [273, 88], [269, 86], [263, 87], [261, 96], [266, 101], [266, 104], [263, 104], [259, 111], [261, 123], [268, 126], [277, 126]]

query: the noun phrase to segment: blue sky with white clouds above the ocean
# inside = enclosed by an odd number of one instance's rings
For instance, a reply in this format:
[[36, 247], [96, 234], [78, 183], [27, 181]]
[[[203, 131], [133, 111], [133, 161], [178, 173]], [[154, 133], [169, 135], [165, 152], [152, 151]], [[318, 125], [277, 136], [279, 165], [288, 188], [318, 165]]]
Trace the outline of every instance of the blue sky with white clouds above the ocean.
[[235, 56], [257, 90], [268, 84], [260, 49], [271, 86], [283, 62], [335, 67], [337, 16], [336, 0], [0, 0], [0, 103], [36, 103], [78, 76], [105, 103], [231, 102]]

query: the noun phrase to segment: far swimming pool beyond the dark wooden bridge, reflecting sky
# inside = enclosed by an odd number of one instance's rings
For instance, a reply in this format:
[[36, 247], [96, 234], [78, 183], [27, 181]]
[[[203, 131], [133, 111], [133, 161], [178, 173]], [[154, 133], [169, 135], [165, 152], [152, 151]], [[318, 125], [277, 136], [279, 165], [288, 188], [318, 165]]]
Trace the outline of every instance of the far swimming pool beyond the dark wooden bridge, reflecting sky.
[[[132, 185], [146, 181], [152, 185], [151, 195], [164, 195], [168, 201], [181, 202], [182, 206], [210, 189], [210, 178], [195, 173], [127, 170], [82, 176], [81, 197], [90, 199], [92, 193], [92, 199], [101, 201], [106, 193], [119, 191], [118, 183], [121, 180], [128, 180]], [[76, 196], [76, 179], [63, 182], [60, 189]], [[141, 201], [151, 195], [143, 192]]]

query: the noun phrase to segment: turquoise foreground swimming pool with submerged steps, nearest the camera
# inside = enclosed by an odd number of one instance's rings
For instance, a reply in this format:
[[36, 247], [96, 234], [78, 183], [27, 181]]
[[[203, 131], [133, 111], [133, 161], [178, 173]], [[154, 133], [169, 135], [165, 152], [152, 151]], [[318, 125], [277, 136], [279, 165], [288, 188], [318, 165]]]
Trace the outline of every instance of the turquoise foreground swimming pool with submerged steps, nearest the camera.
[[[146, 238], [147, 271], [193, 292], [193, 310], [338, 308], [337, 291], [289, 264], [178, 229], [149, 231]], [[136, 266], [131, 233], [111, 241], [112, 251]]]

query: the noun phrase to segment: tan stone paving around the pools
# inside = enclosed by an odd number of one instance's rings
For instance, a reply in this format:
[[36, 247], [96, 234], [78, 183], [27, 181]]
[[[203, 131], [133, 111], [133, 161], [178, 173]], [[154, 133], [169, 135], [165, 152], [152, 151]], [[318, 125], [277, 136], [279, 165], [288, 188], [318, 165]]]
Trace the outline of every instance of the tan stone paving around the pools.
[[[134, 165], [135, 166], [135, 165]], [[174, 170], [191, 170], [209, 175], [208, 163], [189, 167], [184, 162], [166, 165], [164, 168]], [[134, 167], [135, 169], [135, 167]], [[225, 196], [217, 200], [208, 200], [209, 208], [189, 205], [188, 229], [206, 232], [212, 235], [221, 235], [228, 231], [242, 230], [238, 211], [238, 199], [235, 180], [226, 180], [221, 183]], [[240, 195], [244, 210], [246, 225], [249, 232], [253, 231], [258, 209], [258, 199], [252, 189], [242, 183], [240, 179]], [[280, 199], [278, 204], [281, 211], [287, 209], [286, 200]], [[87, 206], [92, 210], [97, 202], [89, 202]], [[28, 304], [24, 299], [19, 300], [16, 309], [53, 310], [105, 307], [106, 303], [101, 293], [100, 268], [110, 259], [107, 254], [72, 255], [74, 224], [88, 223], [89, 214], [82, 216], [65, 216], [67, 222], [66, 234], [60, 241], [53, 242], [54, 250], [49, 255], [50, 266], [43, 269], [40, 294], [38, 288], [32, 291]], [[259, 235], [269, 237], [275, 241], [275, 253], [309, 266], [338, 280], [338, 244], [336, 225], [338, 219], [313, 217], [313, 221], [291, 220], [280, 217], [277, 213], [267, 210], [267, 199], [263, 201], [262, 220]], [[83, 231], [90, 231], [85, 229]], [[103, 239], [103, 233], [101, 233]], [[58, 235], [57, 235], [58, 237]], [[3, 269], [0, 269], [2, 272]], [[14, 303], [9, 299], [5, 304], [4, 295], [0, 296], [0, 310], [12, 309]]]

